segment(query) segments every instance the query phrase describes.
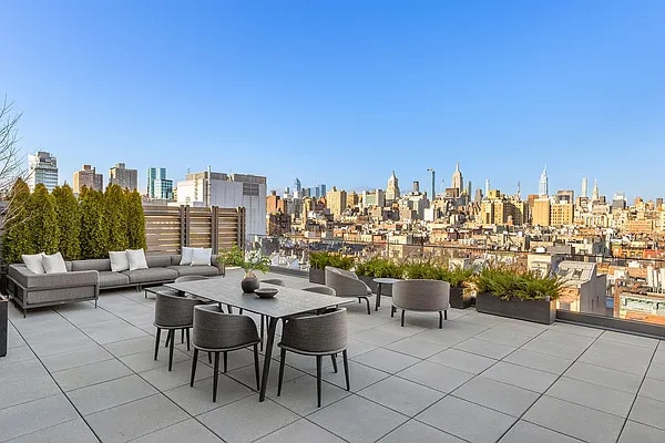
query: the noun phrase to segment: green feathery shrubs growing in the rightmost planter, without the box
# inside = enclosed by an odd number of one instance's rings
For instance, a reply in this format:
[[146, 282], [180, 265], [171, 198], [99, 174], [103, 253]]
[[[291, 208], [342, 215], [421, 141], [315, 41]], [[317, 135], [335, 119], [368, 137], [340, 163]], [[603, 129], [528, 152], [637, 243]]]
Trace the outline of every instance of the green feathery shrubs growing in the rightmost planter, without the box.
[[541, 300], [560, 297], [562, 282], [557, 277], [513, 269], [485, 268], [474, 279], [478, 292], [489, 292], [502, 300], [518, 297], [522, 300]]

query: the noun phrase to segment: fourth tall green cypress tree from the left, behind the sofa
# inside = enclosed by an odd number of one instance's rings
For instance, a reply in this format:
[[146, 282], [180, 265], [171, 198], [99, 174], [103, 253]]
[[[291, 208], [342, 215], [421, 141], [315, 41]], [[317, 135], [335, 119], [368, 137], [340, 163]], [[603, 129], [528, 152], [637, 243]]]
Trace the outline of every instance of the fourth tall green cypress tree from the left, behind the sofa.
[[81, 257], [108, 257], [109, 229], [104, 223], [104, 195], [100, 190], [83, 188], [81, 202]]

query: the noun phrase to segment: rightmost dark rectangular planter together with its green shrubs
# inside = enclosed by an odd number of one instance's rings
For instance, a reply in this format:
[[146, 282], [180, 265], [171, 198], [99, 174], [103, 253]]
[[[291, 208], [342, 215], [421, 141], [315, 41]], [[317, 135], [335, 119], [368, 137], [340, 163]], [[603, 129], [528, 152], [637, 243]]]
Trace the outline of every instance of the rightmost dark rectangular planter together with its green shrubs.
[[550, 324], [556, 318], [557, 277], [508, 269], [483, 269], [475, 279], [475, 310]]

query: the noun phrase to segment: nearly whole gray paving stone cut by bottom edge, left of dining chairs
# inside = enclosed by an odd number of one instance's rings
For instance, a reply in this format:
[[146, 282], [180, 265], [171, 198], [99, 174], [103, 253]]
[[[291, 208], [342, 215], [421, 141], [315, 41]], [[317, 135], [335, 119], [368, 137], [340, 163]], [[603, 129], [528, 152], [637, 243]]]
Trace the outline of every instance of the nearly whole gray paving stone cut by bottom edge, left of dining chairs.
[[85, 420], [103, 442], [129, 442], [190, 416], [157, 394], [88, 415]]

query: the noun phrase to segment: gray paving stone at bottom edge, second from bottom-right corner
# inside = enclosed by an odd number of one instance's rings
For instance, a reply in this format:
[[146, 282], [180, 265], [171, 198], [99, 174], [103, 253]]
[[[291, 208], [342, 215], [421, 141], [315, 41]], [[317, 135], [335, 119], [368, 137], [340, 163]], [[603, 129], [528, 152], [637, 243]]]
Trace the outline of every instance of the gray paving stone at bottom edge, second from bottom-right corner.
[[616, 441], [625, 420], [548, 395], [541, 396], [523, 419], [591, 443]]

